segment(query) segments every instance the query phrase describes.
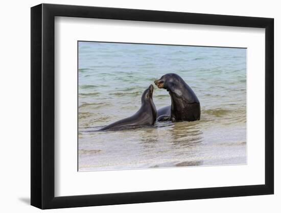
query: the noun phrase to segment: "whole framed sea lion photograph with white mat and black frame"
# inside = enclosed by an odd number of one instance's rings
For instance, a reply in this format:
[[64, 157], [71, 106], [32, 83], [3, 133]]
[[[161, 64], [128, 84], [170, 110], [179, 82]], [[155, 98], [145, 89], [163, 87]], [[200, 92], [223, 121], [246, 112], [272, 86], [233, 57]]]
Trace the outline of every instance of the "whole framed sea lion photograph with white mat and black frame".
[[273, 19], [31, 8], [31, 205], [274, 192]]

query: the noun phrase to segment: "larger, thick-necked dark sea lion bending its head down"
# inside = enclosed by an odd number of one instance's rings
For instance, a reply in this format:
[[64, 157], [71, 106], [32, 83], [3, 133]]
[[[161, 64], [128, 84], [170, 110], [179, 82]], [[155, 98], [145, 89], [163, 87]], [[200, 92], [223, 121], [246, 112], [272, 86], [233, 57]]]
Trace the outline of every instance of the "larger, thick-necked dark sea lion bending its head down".
[[174, 73], [163, 75], [154, 81], [158, 88], [167, 89], [171, 97], [171, 106], [157, 110], [157, 121], [199, 121], [200, 102], [183, 79]]

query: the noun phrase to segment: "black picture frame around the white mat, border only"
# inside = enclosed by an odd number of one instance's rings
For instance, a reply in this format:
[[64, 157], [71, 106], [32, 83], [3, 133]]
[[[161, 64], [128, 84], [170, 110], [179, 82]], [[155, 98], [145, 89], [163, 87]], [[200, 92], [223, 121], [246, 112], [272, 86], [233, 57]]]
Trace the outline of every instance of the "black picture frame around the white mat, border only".
[[[265, 29], [265, 184], [55, 197], [55, 16]], [[274, 19], [40, 4], [31, 8], [31, 205], [41, 209], [274, 193]]]

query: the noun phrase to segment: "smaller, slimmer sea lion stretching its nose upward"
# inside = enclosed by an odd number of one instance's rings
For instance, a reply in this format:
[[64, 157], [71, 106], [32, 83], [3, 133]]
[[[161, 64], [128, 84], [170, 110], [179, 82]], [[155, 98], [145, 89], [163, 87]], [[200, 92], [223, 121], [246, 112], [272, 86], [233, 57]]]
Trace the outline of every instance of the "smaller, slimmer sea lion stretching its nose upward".
[[132, 116], [116, 121], [101, 130], [132, 129], [141, 126], [153, 126], [156, 121], [156, 107], [152, 100], [153, 85], [151, 84], [142, 95], [142, 106]]

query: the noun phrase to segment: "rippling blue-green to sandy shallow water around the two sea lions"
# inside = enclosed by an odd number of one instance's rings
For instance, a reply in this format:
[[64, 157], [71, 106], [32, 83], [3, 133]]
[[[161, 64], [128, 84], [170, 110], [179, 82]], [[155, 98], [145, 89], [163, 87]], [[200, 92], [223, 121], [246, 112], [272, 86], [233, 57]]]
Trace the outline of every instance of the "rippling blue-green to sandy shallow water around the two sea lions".
[[[246, 49], [78, 43], [78, 170], [247, 163]], [[134, 114], [143, 91], [167, 73], [194, 90], [201, 120], [97, 131]], [[171, 104], [154, 85], [156, 108]]]

